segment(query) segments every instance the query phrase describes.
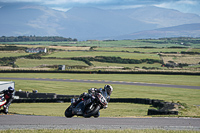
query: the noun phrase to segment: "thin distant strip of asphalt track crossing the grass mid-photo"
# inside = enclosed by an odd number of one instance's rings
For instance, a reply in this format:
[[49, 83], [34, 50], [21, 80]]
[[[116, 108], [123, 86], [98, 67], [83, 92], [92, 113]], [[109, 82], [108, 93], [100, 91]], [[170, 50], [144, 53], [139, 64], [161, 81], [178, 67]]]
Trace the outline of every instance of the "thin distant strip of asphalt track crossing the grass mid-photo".
[[125, 82], [125, 81], [106, 81], [106, 80], [78, 80], [78, 79], [50, 79], [50, 78], [3, 78], [8, 80], [36, 80], [36, 81], [57, 81], [57, 82], [81, 82], [81, 83], [103, 83], [103, 84], [123, 84], [123, 85], [138, 85], [138, 86], [154, 86], [154, 87], [170, 87], [170, 88], [185, 88], [185, 89], [200, 89], [200, 86], [186, 85], [170, 85], [142, 82]]

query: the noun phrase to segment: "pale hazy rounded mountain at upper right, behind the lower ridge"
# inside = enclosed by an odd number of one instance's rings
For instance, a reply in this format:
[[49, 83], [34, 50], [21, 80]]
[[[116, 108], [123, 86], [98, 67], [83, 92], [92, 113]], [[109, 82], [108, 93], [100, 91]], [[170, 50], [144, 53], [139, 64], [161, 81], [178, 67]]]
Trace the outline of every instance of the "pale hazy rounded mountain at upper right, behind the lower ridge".
[[155, 6], [113, 11], [142, 22], [156, 24], [157, 28], [200, 23], [199, 15]]

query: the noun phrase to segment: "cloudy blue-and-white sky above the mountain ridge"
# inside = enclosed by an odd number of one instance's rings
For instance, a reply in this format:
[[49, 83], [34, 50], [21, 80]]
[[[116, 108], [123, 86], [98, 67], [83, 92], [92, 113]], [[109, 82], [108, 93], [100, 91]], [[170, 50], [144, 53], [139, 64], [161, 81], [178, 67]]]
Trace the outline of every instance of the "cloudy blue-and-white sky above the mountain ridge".
[[62, 11], [76, 6], [127, 9], [151, 5], [200, 15], [200, 0], [0, 0], [0, 2], [35, 2]]

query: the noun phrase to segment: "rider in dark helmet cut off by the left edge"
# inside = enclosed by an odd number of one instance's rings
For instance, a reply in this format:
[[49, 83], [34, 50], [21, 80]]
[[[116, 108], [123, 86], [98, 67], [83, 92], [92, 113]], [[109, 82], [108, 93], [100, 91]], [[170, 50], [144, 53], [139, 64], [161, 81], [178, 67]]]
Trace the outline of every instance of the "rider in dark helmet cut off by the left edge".
[[10, 86], [8, 87], [8, 90], [3, 90], [0, 92], [0, 94], [4, 94], [4, 98], [6, 99], [6, 104], [3, 106], [5, 114], [8, 113], [8, 108], [14, 99], [14, 91], [15, 89]]

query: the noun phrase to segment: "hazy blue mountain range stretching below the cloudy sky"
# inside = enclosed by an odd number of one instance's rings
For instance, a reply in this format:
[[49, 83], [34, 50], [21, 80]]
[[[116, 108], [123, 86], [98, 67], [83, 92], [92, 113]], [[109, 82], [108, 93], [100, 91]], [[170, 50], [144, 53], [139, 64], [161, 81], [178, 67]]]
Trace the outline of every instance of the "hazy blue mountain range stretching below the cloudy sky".
[[[151, 38], [149, 35], [166, 37], [167, 31], [154, 29], [167, 30], [167, 27], [185, 27], [185, 24], [190, 25], [185, 29], [185, 36], [195, 37], [199, 36], [199, 31], [190, 28], [193, 23], [200, 23], [200, 16], [196, 14], [153, 6], [126, 10], [74, 7], [61, 12], [32, 3], [2, 2], [0, 18], [0, 36], [63, 36], [78, 40]], [[150, 31], [151, 34], [147, 33]], [[184, 34], [173, 31], [171, 35]]]

